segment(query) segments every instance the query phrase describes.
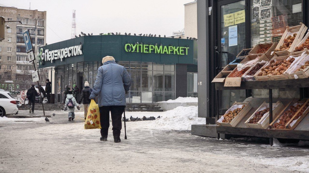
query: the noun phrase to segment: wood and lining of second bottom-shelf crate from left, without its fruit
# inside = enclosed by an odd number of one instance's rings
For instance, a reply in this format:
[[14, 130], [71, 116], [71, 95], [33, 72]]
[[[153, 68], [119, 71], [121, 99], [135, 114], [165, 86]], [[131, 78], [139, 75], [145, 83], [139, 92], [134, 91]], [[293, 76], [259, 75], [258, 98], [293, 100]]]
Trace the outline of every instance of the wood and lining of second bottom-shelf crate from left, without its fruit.
[[[261, 110], [264, 110], [266, 108], [269, 108], [269, 104], [264, 101], [262, 105], [256, 111], [251, 115], [251, 117], [248, 118], [248, 120], [245, 122], [246, 126], [249, 128], [254, 128], [254, 129], [267, 129], [269, 127], [269, 112], [265, 113], [263, 117], [260, 119], [257, 124], [251, 124], [249, 123], [250, 120], [255, 116], [255, 113]], [[277, 103], [273, 103], [273, 116], [277, 116], [278, 113], [281, 111], [283, 108], [283, 104], [281, 101], [277, 101]]]

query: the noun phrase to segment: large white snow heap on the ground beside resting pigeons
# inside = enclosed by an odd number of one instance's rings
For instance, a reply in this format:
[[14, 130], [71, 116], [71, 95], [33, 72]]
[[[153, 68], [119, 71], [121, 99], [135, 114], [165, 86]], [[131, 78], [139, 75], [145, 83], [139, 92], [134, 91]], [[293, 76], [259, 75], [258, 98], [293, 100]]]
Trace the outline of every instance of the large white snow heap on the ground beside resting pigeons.
[[[197, 117], [197, 106], [178, 106], [166, 112], [126, 112], [126, 117], [150, 117], [157, 118], [154, 121], [130, 122], [128, 126], [139, 129], [158, 129], [158, 130], [191, 130], [192, 124], [205, 124], [205, 118]], [[132, 123], [132, 124], [131, 124]], [[135, 123], [133, 125], [133, 123]]]

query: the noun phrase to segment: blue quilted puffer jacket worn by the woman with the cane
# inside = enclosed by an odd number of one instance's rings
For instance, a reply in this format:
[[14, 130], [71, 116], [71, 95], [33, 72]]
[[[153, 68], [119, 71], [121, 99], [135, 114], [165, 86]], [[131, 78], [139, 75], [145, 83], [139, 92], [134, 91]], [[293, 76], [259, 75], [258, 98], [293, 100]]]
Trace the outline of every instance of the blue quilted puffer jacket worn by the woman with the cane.
[[131, 78], [125, 67], [114, 61], [107, 61], [98, 69], [90, 99], [98, 97], [98, 105], [125, 106], [125, 90], [129, 91]]

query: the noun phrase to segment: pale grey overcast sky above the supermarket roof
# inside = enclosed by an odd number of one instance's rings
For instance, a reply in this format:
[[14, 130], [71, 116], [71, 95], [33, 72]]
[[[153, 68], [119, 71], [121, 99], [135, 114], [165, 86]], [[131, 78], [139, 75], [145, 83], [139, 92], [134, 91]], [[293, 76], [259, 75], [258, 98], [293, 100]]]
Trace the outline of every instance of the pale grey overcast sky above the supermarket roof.
[[1, 0], [0, 5], [47, 11], [47, 43], [70, 39], [72, 10], [77, 35], [125, 32], [171, 35], [184, 28], [184, 4], [194, 0]]

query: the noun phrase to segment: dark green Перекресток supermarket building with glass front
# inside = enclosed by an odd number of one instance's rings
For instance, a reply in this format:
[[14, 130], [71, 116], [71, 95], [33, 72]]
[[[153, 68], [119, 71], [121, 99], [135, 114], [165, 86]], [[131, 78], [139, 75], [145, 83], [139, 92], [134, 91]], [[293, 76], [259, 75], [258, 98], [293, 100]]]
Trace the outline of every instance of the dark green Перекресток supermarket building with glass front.
[[197, 44], [189, 39], [91, 35], [40, 47], [40, 68], [50, 70], [55, 103], [65, 85], [93, 87], [102, 57], [113, 56], [131, 76], [127, 103], [197, 97]]

